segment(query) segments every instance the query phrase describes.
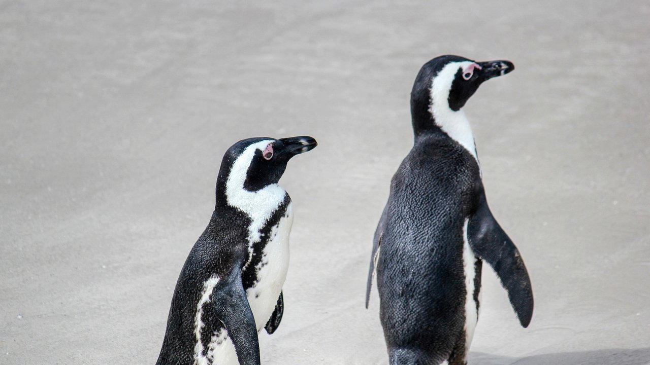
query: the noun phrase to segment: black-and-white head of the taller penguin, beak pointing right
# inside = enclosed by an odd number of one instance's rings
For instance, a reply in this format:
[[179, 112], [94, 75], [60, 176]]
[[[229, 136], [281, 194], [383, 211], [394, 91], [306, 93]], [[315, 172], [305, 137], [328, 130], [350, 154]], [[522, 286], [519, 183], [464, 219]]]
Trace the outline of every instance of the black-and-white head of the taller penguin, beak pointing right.
[[478, 86], [493, 77], [515, 69], [510, 61], [476, 62], [446, 55], [426, 62], [411, 91], [413, 120], [434, 120], [437, 114], [458, 112], [474, 95]]

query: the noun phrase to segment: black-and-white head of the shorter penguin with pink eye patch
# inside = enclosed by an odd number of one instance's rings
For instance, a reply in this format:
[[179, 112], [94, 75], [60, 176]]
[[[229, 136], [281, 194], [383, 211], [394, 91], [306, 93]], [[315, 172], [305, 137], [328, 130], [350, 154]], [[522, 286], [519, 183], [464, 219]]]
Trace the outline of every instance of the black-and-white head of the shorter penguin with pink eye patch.
[[217, 192], [220, 188], [224, 194], [241, 190], [257, 192], [266, 186], [277, 186], [287, 168], [287, 162], [316, 146], [316, 140], [309, 136], [240, 140], [224, 155]]

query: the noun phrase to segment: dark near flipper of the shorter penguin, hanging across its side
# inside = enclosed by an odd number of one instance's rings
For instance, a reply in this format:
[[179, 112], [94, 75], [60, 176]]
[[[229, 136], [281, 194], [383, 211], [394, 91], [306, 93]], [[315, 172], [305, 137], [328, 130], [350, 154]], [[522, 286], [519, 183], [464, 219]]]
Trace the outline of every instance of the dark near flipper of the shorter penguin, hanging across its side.
[[224, 323], [235, 345], [240, 365], [259, 365], [259, 339], [255, 318], [246, 298], [241, 271], [220, 279], [211, 296], [215, 316]]

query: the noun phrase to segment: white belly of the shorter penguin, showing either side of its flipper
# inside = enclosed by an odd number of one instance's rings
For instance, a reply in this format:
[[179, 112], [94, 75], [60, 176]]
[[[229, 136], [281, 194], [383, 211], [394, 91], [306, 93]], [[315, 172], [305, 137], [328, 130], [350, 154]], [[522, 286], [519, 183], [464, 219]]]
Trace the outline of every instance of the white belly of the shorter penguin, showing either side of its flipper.
[[[261, 331], [276, 308], [282, 285], [289, 268], [289, 233], [293, 223], [293, 207], [289, 203], [285, 215], [271, 229], [270, 238], [258, 264], [257, 283], [246, 290], [248, 304], [255, 318], [257, 332]], [[223, 333], [213, 336], [209, 347], [209, 358], [214, 365], [237, 365], [235, 346], [229, 336]]]

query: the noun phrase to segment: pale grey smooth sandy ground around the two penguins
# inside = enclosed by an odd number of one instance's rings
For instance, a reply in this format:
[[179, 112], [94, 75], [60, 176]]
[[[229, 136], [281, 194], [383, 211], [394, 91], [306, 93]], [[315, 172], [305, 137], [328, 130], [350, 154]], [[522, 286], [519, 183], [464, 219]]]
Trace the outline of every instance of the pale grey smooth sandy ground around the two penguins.
[[[248, 2], [246, 2], [248, 3]], [[262, 3], [262, 2], [259, 2]], [[153, 364], [224, 151], [309, 134], [264, 364], [386, 364], [372, 233], [437, 55], [505, 58], [465, 108], [528, 266], [471, 365], [650, 364], [647, 1], [0, 2], [0, 363]]]

